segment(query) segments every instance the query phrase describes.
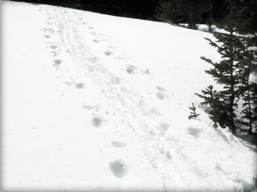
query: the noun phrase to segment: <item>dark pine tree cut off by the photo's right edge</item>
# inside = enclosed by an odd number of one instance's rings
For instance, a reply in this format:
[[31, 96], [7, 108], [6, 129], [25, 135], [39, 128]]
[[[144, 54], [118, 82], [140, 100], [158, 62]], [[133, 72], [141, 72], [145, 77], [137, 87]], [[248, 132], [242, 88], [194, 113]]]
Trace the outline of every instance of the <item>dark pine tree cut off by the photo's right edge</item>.
[[[241, 61], [241, 86], [239, 91], [242, 94], [243, 116], [239, 123], [245, 125], [249, 134], [256, 134], [257, 128], [257, 84], [249, 81], [250, 73], [257, 69], [257, 0], [245, 0], [241, 2], [237, 19], [235, 20], [236, 33], [243, 36], [247, 55]], [[254, 131], [253, 131], [254, 130]]]

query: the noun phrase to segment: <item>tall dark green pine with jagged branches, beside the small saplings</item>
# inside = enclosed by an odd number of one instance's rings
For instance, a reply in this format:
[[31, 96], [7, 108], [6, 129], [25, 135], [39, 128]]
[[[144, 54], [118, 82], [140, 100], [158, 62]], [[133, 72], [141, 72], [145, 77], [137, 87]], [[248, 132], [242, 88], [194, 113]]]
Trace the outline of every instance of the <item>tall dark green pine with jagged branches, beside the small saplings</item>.
[[229, 34], [214, 32], [213, 36], [217, 39], [216, 42], [221, 42], [223, 45], [218, 45], [212, 40], [205, 38], [209, 41], [209, 44], [218, 49], [219, 54], [223, 58], [222, 61], [213, 63], [212, 60], [205, 57], [200, 57], [208, 63], [211, 63], [214, 68], [206, 70], [205, 72], [214, 77], [216, 83], [223, 84], [224, 90], [219, 91], [219, 100], [222, 103], [219, 107], [223, 114], [228, 115], [228, 126], [232, 129], [232, 133], [236, 132], [234, 111], [238, 108], [236, 98], [240, 97], [237, 90], [240, 74], [238, 74], [242, 67], [239, 63], [245, 55], [245, 46], [240, 39], [234, 35], [235, 32], [235, 16], [236, 6], [234, 0], [226, 0], [230, 13], [223, 19], [223, 21], [217, 23], [219, 28], [225, 29]]

